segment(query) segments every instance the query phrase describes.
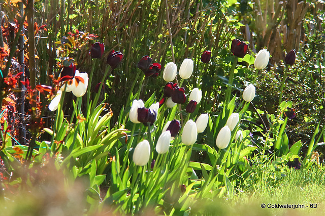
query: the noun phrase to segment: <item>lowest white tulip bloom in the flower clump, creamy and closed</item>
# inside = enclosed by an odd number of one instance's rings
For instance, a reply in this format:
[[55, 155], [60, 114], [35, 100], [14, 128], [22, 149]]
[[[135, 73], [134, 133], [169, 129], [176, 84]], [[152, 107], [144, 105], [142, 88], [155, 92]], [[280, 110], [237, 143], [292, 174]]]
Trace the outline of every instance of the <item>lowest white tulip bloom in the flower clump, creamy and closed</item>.
[[150, 145], [144, 140], [136, 146], [133, 152], [133, 162], [137, 166], [144, 166], [148, 163], [150, 157]]

